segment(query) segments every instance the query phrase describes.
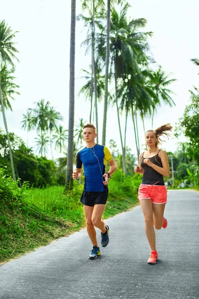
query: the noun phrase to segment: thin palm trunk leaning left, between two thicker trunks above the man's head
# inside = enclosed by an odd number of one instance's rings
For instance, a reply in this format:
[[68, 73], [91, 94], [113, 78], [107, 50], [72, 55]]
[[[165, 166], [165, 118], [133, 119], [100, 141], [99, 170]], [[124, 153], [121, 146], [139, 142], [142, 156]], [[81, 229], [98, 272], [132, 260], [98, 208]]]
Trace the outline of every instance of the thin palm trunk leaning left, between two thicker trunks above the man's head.
[[97, 77], [96, 77], [96, 61], [95, 61], [95, 0], [93, 0], [92, 56], [93, 56], [93, 73], [94, 73], [95, 109], [96, 109], [96, 133], [97, 133], [96, 141], [98, 143], [98, 94], [97, 94]]

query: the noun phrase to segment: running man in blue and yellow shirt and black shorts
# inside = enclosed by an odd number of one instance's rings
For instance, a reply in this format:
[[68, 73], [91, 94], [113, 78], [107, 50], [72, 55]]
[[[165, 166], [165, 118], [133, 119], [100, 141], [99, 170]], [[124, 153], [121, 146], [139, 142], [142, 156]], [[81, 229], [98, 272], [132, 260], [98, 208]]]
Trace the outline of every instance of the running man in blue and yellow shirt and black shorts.
[[[116, 164], [110, 151], [105, 146], [95, 143], [97, 134], [94, 125], [87, 124], [84, 126], [83, 133], [87, 146], [77, 153], [77, 164], [76, 170], [73, 172], [73, 179], [80, 177], [83, 164], [85, 184], [81, 202], [84, 204], [87, 232], [93, 243], [93, 250], [89, 258], [96, 259], [100, 255], [100, 247], [95, 226], [101, 230], [101, 246], [106, 247], [109, 242], [109, 227], [104, 224], [101, 218], [108, 197], [108, 178], [116, 170]], [[105, 161], [110, 165], [110, 169], [106, 173]]]

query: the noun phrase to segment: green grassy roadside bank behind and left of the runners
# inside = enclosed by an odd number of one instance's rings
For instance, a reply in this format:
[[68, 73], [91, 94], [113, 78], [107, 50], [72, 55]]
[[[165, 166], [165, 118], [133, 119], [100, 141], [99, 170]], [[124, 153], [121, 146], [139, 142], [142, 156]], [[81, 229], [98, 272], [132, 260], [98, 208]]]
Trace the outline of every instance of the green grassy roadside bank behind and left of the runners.
[[[110, 180], [104, 219], [138, 203], [136, 180], [120, 178], [116, 177], [119, 181]], [[7, 192], [7, 184], [5, 187]], [[80, 202], [82, 190], [83, 186], [77, 182], [74, 190], [66, 195], [63, 195], [64, 187], [18, 191], [18, 187], [12, 183], [6, 201], [0, 198], [0, 263], [85, 227], [83, 205]]]

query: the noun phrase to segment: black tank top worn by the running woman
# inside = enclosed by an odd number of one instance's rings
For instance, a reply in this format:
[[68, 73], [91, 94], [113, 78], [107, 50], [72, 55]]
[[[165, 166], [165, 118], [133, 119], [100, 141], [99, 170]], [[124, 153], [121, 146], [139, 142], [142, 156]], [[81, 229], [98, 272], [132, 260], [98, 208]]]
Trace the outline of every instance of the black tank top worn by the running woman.
[[[160, 152], [160, 150], [158, 151], [158, 153]], [[162, 161], [161, 161], [161, 158], [159, 157], [158, 153], [155, 156], [148, 158], [148, 159], [150, 159], [153, 164], [156, 164], [159, 167], [162, 167]], [[144, 157], [144, 152], [143, 152], [142, 158], [141, 158], [141, 163], [140, 163], [143, 168], [142, 184], [153, 185], [156, 183], [156, 185], [164, 185], [165, 182], [164, 182], [163, 175], [161, 173], [159, 173], [158, 171], [156, 171], [155, 169], [153, 169], [151, 166], [145, 164], [144, 159], [146, 159], [146, 158]]]

